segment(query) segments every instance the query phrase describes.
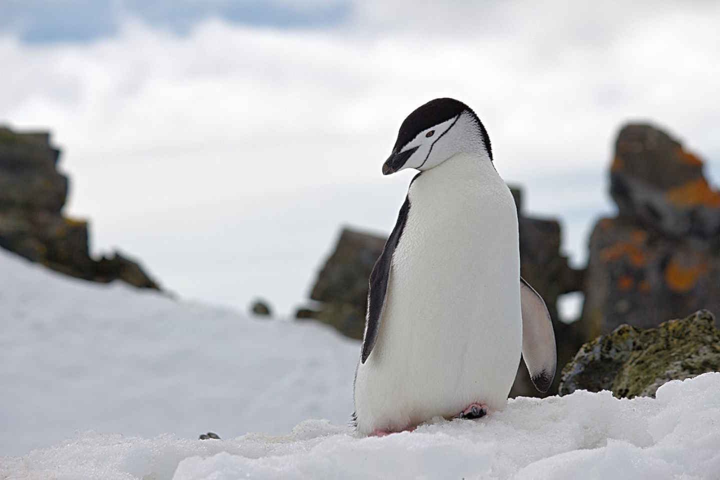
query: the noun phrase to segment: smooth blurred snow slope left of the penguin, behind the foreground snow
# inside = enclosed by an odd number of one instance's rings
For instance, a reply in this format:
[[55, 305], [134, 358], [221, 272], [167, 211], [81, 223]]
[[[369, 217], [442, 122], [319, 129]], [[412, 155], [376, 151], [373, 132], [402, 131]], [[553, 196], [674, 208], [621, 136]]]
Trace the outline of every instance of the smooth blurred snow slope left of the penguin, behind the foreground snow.
[[315, 322], [69, 279], [0, 249], [0, 456], [76, 430], [197, 439], [343, 423], [358, 356]]

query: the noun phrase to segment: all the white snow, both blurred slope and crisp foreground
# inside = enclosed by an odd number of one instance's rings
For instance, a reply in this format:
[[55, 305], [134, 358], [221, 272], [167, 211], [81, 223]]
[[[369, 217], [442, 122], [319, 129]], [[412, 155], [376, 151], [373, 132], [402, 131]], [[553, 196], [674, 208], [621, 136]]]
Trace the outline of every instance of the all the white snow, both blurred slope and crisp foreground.
[[[346, 426], [359, 345], [331, 330], [66, 279], [3, 252], [0, 271], [0, 479], [720, 472], [720, 373], [655, 399], [521, 397], [480, 420], [361, 438]], [[207, 430], [225, 440], [197, 440]]]

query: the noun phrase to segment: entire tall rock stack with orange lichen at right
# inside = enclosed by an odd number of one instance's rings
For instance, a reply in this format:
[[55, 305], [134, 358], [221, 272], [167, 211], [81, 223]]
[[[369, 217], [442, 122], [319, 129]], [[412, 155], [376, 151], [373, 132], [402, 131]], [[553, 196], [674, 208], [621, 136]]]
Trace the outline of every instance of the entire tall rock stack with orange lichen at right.
[[624, 127], [611, 166], [618, 216], [590, 236], [585, 338], [720, 310], [720, 193], [703, 163], [661, 130]]

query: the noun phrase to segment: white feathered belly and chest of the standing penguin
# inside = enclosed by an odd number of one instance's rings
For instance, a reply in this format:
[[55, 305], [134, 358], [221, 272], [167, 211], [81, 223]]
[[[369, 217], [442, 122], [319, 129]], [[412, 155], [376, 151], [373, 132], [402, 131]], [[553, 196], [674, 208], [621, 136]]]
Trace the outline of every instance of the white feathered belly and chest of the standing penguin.
[[457, 157], [408, 192], [377, 343], [356, 373], [360, 433], [507, 402], [522, 345], [516, 207], [489, 161]]

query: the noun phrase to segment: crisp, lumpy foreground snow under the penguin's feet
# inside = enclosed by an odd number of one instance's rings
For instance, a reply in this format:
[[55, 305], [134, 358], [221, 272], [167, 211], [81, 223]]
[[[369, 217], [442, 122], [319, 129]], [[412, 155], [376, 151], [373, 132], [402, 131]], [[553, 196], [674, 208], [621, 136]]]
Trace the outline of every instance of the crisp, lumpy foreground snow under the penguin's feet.
[[384, 438], [321, 420], [234, 440], [85, 434], [0, 464], [17, 479], [717, 479], [720, 373], [672, 381], [657, 399], [519, 398]]

